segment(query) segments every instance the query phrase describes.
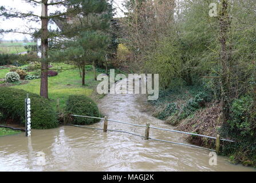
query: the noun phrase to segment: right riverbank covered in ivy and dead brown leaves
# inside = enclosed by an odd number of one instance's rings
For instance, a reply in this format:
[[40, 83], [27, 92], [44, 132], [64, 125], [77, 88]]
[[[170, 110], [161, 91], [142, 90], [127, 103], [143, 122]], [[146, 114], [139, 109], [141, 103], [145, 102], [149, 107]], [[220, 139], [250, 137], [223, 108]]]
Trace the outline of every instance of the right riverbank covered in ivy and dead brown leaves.
[[[256, 156], [253, 152], [253, 142], [247, 138], [229, 136], [225, 129], [222, 115], [222, 104], [214, 100], [214, 96], [203, 86], [184, 86], [176, 89], [160, 91], [159, 99], [152, 101], [153, 116], [164, 120], [176, 130], [202, 134], [204, 136], [220, 137], [235, 142], [222, 142], [220, 154], [229, 157], [234, 164], [256, 167]], [[244, 108], [244, 107], [243, 107]], [[239, 108], [239, 109], [243, 109]], [[205, 148], [215, 148], [215, 140], [198, 136], [187, 136], [185, 140], [191, 144]]]

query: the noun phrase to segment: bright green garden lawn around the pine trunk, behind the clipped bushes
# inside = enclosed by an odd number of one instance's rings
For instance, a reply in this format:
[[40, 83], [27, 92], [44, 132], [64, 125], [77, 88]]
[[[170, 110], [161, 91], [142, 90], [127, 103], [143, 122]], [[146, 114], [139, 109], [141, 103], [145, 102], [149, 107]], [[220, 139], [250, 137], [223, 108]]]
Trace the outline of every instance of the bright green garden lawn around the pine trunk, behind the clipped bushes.
[[[27, 81], [29, 81], [29, 83], [25, 85], [16, 85], [11, 87], [40, 94], [41, 79], [38, 78]], [[80, 78], [78, 69], [65, 70], [54, 77], [49, 77], [48, 94], [53, 109], [56, 110], [58, 98], [60, 99], [60, 109], [64, 109], [65, 102], [69, 95], [76, 94], [90, 96], [99, 81], [94, 81], [93, 72], [88, 71], [85, 75], [85, 86], [82, 86], [81, 83], [82, 79]]]

